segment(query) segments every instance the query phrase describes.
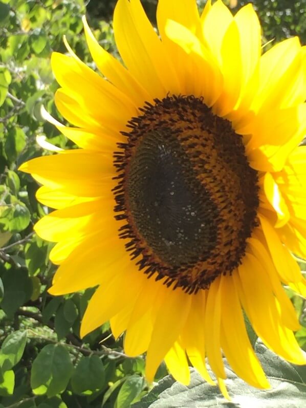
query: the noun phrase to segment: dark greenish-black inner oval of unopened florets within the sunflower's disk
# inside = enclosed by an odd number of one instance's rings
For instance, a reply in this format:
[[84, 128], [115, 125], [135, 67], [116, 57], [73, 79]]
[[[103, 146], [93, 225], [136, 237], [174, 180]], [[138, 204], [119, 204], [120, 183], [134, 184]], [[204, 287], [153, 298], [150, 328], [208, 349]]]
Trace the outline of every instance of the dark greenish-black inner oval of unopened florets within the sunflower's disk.
[[161, 260], [180, 267], [209, 255], [217, 208], [170, 129], [142, 138], [129, 163], [126, 195], [137, 230]]

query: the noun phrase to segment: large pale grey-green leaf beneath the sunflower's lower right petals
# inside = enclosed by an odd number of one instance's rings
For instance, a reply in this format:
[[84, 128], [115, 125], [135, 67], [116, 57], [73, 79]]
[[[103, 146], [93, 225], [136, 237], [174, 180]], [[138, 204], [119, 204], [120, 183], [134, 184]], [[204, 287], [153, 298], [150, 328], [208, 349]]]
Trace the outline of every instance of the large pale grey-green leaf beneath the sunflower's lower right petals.
[[[306, 393], [306, 367], [293, 366], [257, 343], [255, 351], [271, 384], [270, 390], [259, 390], [246, 384], [237, 377], [225, 362], [227, 386], [231, 402], [222, 396], [217, 386], [204, 382], [194, 369], [188, 386], [182, 385], [167, 376], [159, 381], [149, 394], [132, 408], [164, 408], [177, 406], [184, 408], [215, 407], [222, 405], [234, 407], [265, 407], [265, 408], [304, 408]], [[211, 373], [211, 371], [209, 370]], [[211, 373], [212, 374], [212, 373]]]

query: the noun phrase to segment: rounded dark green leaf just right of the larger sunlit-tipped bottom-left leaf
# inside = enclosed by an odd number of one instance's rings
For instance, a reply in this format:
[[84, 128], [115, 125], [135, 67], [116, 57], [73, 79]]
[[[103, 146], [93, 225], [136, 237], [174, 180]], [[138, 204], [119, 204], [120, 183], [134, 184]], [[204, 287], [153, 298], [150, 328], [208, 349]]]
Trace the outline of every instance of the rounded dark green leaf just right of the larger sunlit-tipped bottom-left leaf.
[[103, 388], [105, 373], [97, 355], [82, 357], [71, 378], [73, 391], [79, 395], [91, 395]]

